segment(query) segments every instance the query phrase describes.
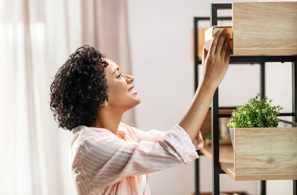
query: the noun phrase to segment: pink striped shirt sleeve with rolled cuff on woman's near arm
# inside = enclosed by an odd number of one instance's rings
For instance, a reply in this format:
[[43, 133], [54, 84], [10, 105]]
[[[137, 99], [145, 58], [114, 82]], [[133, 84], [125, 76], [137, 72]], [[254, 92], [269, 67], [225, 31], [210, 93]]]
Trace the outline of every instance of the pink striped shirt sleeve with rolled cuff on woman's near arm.
[[93, 134], [82, 141], [78, 156], [89, 181], [99, 188], [199, 157], [190, 136], [179, 125], [154, 142], [131, 143], [106, 132]]

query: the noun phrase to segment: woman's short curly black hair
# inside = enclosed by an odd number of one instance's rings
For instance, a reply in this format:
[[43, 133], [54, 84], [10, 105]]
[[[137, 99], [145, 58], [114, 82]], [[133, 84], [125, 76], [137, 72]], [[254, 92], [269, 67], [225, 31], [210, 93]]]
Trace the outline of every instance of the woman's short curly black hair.
[[50, 85], [50, 109], [58, 127], [72, 130], [91, 125], [101, 104], [108, 101], [104, 73], [107, 62], [94, 47], [78, 48], [59, 68]]

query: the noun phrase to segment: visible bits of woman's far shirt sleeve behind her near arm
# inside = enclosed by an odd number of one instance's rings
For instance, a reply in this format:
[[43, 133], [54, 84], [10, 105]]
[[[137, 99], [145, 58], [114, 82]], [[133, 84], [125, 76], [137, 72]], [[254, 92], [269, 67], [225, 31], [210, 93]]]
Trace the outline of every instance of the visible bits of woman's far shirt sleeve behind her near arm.
[[[162, 139], [166, 134], [165, 131], [158, 131], [156, 129], [152, 129], [150, 131], [142, 131], [135, 127], [130, 127], [130, 128], [132, 128], [132, 130], [137, 135], [138, 142], [140, 142], [142, 140], [155, 141], [157, 139]], [[196, 150], [200, 150], [201, 148], [203, 148], [204, 141], [203, 141], [202, 134], [200, 131], [199, 131], [196, 139], [194, 140], [193, 144], [194, 144]]]

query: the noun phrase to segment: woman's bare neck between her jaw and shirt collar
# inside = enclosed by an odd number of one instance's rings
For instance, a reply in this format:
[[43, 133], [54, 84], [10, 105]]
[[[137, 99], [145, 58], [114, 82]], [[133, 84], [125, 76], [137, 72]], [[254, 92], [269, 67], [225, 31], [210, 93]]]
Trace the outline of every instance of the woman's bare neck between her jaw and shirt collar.
[[98, 117], [96, 121], [90, 127], [108, 129], [115, 135], [117, 135], [118, 126], [122, 120], [124, 112], [119, 112], [117, 109], [110, 107], [101, 107], [98, 111]]

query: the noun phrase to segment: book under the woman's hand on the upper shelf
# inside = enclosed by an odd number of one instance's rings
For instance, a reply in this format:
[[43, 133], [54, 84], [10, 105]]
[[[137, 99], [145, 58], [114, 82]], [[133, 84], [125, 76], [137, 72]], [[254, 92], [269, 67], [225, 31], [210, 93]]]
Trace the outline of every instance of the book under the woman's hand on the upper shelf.
[[[233, 32], [232, 32], [232, 26], [213, 26], [209, 29], [207, 29], [204, 33], [204, 41], [205, 41], [205, 49], [208, 51], [209, 50], [209, 47], [210, 47], [210, 44], [211, 44], [211, 41], [215, 35], [215, 33], [220, 30], [221, 32], [224, 30], [224, 29], [227, 29], [227, 33], [230, 34], [230, 39], [231, 39], [231, 44], [232, 44], [232, 41], [233, 41]], [[232, 46], [232, 45], [231, 45]]]

